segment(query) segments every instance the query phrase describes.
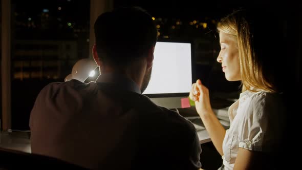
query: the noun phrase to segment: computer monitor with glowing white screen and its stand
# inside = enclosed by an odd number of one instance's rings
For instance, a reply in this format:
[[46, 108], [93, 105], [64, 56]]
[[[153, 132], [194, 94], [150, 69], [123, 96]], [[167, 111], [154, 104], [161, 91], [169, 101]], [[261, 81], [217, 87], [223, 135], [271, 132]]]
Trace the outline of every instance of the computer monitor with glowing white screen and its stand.
[[191, 42], [158, 41], [153, 69], [144, 95], [169, 109], [181, 108], [181, 98], [188, 97], [195, 78]]

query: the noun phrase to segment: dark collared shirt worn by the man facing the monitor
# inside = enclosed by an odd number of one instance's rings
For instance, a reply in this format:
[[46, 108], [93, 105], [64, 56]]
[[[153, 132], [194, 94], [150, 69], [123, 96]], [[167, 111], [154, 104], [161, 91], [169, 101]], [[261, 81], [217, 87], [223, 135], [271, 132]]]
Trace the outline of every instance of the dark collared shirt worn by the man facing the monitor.
[[50, 83], [30, 115], [32, 153], [92, 169], [199, 169], [194, 126], [158, 107], [132, 80]]

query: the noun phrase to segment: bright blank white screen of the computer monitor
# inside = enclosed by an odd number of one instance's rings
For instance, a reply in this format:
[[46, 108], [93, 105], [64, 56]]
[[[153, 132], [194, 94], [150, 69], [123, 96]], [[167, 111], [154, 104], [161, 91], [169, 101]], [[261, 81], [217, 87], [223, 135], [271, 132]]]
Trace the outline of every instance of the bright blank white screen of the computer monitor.
[[191, 86], [191, 44], [157, 42], [151, 79], [143, 94], [188, 93]]

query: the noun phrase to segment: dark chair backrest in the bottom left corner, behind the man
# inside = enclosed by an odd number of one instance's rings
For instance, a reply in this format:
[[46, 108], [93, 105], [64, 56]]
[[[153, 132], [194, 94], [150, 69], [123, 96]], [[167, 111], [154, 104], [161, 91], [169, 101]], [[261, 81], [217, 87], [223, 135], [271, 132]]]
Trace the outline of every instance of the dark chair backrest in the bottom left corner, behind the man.
[[0, 169], [87, 169], [56, 158], [0, 148]]

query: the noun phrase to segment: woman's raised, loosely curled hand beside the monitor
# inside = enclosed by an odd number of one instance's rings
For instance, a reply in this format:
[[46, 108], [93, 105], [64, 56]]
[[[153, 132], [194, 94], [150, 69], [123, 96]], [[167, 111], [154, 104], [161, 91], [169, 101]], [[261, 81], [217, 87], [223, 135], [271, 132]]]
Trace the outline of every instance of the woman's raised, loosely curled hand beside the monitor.
[[198, 79], [196, 83], [192, 84], [189, 97], [192, 101], [195, 101], [195, 107], [199, 115], [203, 116], [212, 112], [209, 90], [203, 86], [200, 79]]

